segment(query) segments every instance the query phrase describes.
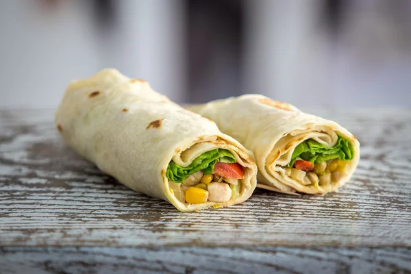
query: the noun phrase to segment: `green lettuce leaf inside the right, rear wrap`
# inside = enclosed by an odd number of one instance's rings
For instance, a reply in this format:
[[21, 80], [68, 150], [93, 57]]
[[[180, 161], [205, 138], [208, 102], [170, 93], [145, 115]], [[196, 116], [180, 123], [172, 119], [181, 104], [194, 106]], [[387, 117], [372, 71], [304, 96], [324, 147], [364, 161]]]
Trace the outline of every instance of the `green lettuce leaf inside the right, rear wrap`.
[[352, 160], [353, 158], [353, 145], [349, 140], [338, 135], [338, 140], [334, 147], [328, 147], [312, 139], [301, 142], [292, 152], [291, 161], [288, 166], [294, 166], [294, 162], [297, 160], [319, 163], [333, 159]]

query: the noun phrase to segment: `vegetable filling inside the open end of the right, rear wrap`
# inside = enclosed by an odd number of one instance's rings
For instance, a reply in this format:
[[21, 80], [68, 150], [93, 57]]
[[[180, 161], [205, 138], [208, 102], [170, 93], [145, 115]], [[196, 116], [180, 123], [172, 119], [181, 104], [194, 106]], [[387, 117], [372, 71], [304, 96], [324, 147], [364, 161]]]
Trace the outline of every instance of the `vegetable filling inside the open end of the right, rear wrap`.
[[347, 163], [353, 158], [353, 145], [339, 135], [334, 147], [308, 139], [295, 147], [284, 170], [287, 176], [303, 185], [327, 186], [348, 175]]

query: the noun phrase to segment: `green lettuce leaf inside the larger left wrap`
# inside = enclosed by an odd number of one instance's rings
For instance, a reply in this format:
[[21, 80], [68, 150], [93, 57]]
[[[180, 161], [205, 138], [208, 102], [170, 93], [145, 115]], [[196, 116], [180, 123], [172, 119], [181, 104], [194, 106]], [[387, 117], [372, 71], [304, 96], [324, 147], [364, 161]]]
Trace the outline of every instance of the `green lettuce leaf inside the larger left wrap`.
[[179, 166], [171, 161], [167, 167], [166, 175], [171, 181], [181, 183], [197, 171], [203, 171], [206, 175], [211, 174], [214, 171], [216, 162], [234, 163], [236, 158], [226, 149], [214, 149], [199, 155], [186, 167]]

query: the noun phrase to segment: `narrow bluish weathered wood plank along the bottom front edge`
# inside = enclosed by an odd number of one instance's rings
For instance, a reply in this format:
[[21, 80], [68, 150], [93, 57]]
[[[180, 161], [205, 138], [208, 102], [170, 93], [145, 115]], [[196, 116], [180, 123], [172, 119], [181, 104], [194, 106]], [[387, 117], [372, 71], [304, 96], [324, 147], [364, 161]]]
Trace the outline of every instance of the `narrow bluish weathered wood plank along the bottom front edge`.
[[411, 250], [5, 248], [0, 273], [411, 273]]

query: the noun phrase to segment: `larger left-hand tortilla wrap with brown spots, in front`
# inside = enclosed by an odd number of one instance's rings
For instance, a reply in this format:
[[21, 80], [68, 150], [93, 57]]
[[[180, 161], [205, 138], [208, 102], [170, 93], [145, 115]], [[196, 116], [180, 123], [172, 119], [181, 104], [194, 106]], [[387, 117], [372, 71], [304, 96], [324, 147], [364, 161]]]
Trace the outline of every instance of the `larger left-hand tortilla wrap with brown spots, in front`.
[[103, 173], [182, 212], [241, 203], [256, 188], [253, 155], [237, 140], [114, 69], [71, 82], [55, 126]]

